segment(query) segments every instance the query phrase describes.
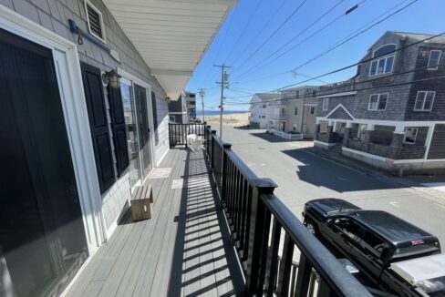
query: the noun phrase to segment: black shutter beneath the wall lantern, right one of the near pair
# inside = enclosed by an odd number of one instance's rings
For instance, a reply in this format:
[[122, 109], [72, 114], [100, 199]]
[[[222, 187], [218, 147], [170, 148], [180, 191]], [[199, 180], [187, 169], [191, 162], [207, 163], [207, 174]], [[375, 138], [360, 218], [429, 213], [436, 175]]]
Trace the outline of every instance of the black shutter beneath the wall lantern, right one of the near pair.
[[124, 107], [119, 87], [109, 86], [109, 109], [111, 113], [114, 149], [118, 162], [118, 175], [120, 176], [122, 172], [129, 167], [129, 149], [127, 148]]

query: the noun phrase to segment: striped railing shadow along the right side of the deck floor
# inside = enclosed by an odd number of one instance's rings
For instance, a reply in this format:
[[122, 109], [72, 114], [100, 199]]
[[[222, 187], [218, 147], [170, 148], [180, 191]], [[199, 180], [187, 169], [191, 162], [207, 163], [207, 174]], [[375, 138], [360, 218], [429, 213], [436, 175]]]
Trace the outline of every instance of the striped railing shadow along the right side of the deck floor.
[[168, 296], [234, 296], [243, 290], [209, 172], [202, 153], [187, 153]]

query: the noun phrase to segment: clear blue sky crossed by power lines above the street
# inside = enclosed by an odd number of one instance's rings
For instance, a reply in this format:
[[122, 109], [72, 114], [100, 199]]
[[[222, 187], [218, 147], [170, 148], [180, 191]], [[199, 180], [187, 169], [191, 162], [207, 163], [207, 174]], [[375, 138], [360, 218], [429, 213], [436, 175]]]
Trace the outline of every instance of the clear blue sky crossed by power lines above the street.
[[[213, 67], [213, 64], [232, 66], [228, 69], [232, 85], [225, 91], [226, 101], [248, 102], [255, 92], [295, 84], [307, 79], [305, 76], [316, 77], [357, 63], [365, 56], [369, 46], [386, 31], [427, 34], [445, 32], [444, 0], [417, 0], [409, 5], [412, 1], [415, 0], [239, 0], [213, 39], [186, 89], [197, 91], [201, 87], [206, 88], [205, 109], [216, 110], [220, 88], [215, 81], [221, 79], [221, 70]], [[350, 7], [357, 4], [360, 5], [355, 11], [345, 15]], [[299, 5], [301, 7], [292, 15]], [[290, 72], [358, 29], [371, 25], [369, 22], [377, 21], [405, 5], [409, 7], [325, 56], [300, 67], [296, 76]], [[273, 35], [290, 15], [292, 17]], [[322, 15], [325, 16], [305, 30]], [[382, 16], [378, 18], [379, 15]], [[330, 22], [333, 23], [326, 26]], [[309, 37], [324, 26], [325, 29]], [[292, 38], [295, 38], [294, 41], [277, 51]], [[295, 48], [290, 50], [293, 46]], [[280, 56], [285, 51], [288, 52]], [[333, 83], [352, 77], [355, 71], [355, 68], [350, 68], [320, 79]], [[322, 85], [323, 82], [311, 81], [306, 84]], [[198, 101], [200, 109], [201, 97], [198, 97]], [[248, 106], [226, 105], [224, 108], [241, 110], [248, 109]]]

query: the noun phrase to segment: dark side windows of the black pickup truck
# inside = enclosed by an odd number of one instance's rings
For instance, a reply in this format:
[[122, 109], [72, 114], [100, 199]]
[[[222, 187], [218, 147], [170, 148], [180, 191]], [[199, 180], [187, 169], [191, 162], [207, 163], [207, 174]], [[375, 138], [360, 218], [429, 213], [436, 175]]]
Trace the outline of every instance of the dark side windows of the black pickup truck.
[[374, 233], [357, 223], [357, 221], [348, 218], [337, 218], [334, 220], [336, 230], [347, 236], [361, 251], [366, 254], [380, 256], [385, 244]]

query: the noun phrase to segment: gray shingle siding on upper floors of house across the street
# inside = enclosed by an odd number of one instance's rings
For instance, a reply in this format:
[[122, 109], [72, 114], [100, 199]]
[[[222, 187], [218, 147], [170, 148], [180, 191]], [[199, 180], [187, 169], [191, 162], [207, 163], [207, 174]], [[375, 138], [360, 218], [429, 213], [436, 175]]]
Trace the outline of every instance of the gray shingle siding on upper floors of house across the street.
[[[367, 60], [372, 56], [372, 53], [379, 46], [387, 44], [396, 44], [397, 48], [403, 48], [415, 42], [410, 38], [404, 38], [397, 34], [388, 32], [380, 37], [378, 41], [367, 52], [367, 55], [362, 58], [362, 61]], [[336, 108], [338, 104], [342, 104], [358, 119], [378, 119], [378, 120], [445, 120], [445, 84], [439, 84], [437, 80], [418, 82], [409, 84], [423, 78], [445, 76], [445, 67], [440, 66], [436, 71], [420, 70], [412, 71], [420, 67], [426, 67], [429, 59], [429, 51], [431, 49], [440, 49], [445, 51], [443, 44], [429, 44], [425, 46], [424, 43], [415, 46], [409, 46], [396, 52], [393, 71], [388, 74], [369, 77], [370, 61], [365, 62], [358, 67], [357, 76], [351, 80], [337, 83], [334, 85], [327, 85], [320, 87], [319, 102], [317, 108], [318, 117], [326, 117], [326, 115]], [[443, 55], [440, 59], [440, 64], [445, 63]], [[404, 73], [412, 71], [402, 75]], [[391, 86], [397, 84], [404, 84], [401, 86]], [[389, 86], [389, 87], [386, 87]], [[336, 88], [334, 88], [336, 87]], [[322, 110], [323, 95], [342, 93], [355, 90], [357, 95], [346, 97], [329, 97], [329, 106], [327, 110]], [[433, 110], [430, 112], [414, 111], [414, 103], [416, 101], [418, 90], [433, 90], [436, 91], [434, 99]], [[385, 110], [367, 110], [369, 104], [369, 97], [372, 94], [388, 93], [387, 108]]]

